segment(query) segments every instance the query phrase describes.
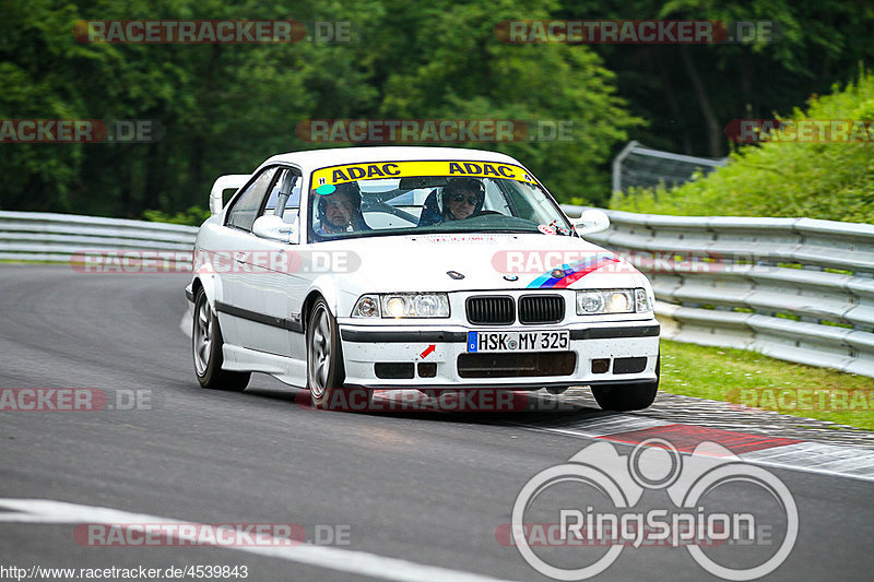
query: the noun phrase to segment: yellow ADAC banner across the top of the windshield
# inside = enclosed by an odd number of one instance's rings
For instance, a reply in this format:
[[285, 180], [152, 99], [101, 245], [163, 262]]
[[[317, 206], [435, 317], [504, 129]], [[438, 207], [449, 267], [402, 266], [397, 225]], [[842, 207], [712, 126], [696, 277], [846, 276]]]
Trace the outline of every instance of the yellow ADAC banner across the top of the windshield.
[[316, 188], [353, 180], [405, 178], [418, 176], [465, 176], [479, 178], [503, 178], [520, 182], [536, 183], [523, 168], [512, 164], [495, 162], [388, 162], [376, 164], [346, 164], [317, 169], [312, 173]]

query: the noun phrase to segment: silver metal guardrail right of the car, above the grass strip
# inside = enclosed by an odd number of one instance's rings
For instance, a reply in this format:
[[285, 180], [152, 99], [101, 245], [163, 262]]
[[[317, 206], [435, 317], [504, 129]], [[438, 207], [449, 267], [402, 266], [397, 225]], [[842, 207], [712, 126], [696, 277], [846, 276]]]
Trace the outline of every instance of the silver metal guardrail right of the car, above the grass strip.
[[874, 377], [874, 225], [605, 212], [587, 239], [650, 277], [662, 337]]

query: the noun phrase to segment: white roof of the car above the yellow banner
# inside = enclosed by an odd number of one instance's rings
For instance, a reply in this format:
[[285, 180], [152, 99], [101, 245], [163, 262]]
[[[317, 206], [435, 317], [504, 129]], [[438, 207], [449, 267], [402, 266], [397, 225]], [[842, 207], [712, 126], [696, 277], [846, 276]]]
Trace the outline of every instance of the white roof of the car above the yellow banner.
[[404, 162], [425, 159], [471, 159], [480, 162], [497, 162], [519, 164], [512, 157], [485, 150], [466, 147], [423, 147], [423, 146], [380, 146], [380, 147], [334, 147], [331, 150], [309, 150], [279, 154], [259, 166], [277, 163], [295, 164], [305, 169], [323, 168], [342, 164], [361, 164], [368, 162]]

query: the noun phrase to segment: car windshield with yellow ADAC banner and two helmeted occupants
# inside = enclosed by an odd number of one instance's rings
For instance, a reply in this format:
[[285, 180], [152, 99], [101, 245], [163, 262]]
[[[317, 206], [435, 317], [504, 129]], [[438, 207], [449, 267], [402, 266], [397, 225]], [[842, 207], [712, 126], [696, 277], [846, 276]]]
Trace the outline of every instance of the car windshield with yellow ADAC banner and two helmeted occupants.
[[494, 162], [395, 162], [316, 170], [310, 240], [406, 234], [569, 235], [567, 217], [524, 168]]

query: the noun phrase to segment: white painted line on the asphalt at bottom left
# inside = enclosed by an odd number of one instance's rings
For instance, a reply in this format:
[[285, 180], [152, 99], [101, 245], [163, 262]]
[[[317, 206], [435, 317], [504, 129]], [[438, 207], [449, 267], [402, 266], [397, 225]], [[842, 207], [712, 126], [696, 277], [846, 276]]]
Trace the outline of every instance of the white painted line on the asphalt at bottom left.
[[[168, 520], [157, 515], [131, 513], [111, 508], [81, 506], [52, 499], [4, 499], [0, 498], [0, 522], [8, 523], [162, 523], [191, 525], [192, 522]], [[200, 525], [200, 524], [194, 524]], [[72, 536], [71, 536], [72, 537]], [[71, 539], [72, 542], [72, 539]], [[355, 575], [416, 582], [420, 580], [494, 582], [498, 579], [487, 575], [451, 570], [438, 566], [427, 566], [398, 558], [387, 558], [367, 551], [341, 549], [332, 546], [218, 546], [224, 549], [246, 551], [282, 560], [306, 563], [318, 568], [350, 572]]]

